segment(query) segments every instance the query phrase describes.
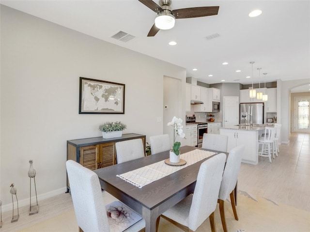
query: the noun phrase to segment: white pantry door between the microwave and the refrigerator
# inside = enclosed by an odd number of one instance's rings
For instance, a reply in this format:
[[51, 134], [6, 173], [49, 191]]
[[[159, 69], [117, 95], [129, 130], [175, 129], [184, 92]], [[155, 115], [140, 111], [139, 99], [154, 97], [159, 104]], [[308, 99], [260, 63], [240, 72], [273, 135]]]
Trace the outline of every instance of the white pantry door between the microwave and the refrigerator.
[[239, 97], [223, 97], [224, 127], [239, 124]]

